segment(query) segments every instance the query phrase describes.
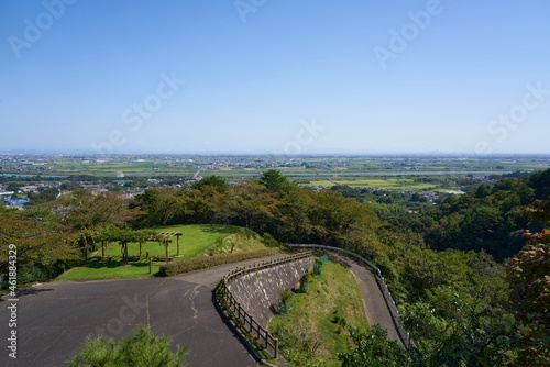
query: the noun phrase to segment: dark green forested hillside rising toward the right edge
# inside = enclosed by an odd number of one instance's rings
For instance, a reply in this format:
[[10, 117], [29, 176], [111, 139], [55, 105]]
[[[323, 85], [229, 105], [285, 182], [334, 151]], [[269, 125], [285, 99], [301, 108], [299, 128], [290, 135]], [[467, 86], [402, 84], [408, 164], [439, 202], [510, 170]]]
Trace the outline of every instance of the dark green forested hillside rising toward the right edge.
[[388, 218], [393, 230], [421, 234], [433, 249], [485, 251], [502, 262], [526, 244], [526, 230], [541, 231], [544, 223], [522, 211], [534, 200], [550, 197], [550, 170], [525, 178], [505, 178], [493, 187], [481, 185], [463, 196], [449, 196], [439, 205], [410, 214], [397, 211]]

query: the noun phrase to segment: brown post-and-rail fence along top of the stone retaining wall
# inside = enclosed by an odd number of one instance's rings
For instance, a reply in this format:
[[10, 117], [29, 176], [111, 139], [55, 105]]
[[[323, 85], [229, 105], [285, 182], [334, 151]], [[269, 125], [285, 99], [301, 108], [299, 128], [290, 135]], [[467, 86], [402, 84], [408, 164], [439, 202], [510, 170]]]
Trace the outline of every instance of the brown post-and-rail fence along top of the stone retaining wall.
[[278, 357], [278, 338], [274, 337], [270, 331], [264, 329], [262, 325], [260, 325], [255, 320], [254, 316], [251, 315], [250, 313], [246, 312], [246, 310], [243, 309], [243, 307], [237, 301], [233, 293], [229, 290], [229, 282], [239, 276], [243, 276], [245, 274], [249, 274], [251, 271], [256, 271], [260, 269], [265, 269], [270, 268], [273, 266], [278, 266], [282, 264], [286, 263], [292, 263], [296, 262], [302, 258], [307, 258], [312, 256], [312, 252], [305, 252], [300, 254], [293, 254], [293, 255], [287, 255], [284, 257], [279, 258], [274, 258], [271, 260], [265, 260], [258, 264], [253, 264], [250, 266], [244, 266], [242, 268], [237, 268], [234, 270], [230, 270], [224, 277], [223, 277], [223, 298], [233, 313], [233, 315], [239, 320], [242, 324], [242, 329], [248, 332], [250, 335], [252, 335], [265, 349], [270, 355], [272, 355], [274, 358]]

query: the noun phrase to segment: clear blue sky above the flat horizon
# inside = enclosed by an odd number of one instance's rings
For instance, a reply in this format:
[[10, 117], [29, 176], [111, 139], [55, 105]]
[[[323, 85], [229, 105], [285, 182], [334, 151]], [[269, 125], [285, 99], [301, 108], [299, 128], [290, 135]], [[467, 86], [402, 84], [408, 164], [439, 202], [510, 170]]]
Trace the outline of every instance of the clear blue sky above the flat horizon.
[[548, 0], [66, 1], [0, 2], [0, 151], [550, 153]]

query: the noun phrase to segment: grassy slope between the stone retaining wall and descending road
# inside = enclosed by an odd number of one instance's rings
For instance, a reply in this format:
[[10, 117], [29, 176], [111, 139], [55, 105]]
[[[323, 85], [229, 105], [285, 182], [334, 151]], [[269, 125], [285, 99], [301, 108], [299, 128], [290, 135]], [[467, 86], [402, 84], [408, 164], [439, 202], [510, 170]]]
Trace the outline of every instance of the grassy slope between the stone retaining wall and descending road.
[[[332, 262], [322, 269], [322, 276], [311, 278], [309, 294], [294, 294], [294, 310], [270, 322], [290, 366], [340, 366], [337, 354], [346, 352], [349, 343], [341, 320], [369, 330], [361, 292], [350, 270]], [[308, 352], [315, 342], [320, 343], [318, 349]]]

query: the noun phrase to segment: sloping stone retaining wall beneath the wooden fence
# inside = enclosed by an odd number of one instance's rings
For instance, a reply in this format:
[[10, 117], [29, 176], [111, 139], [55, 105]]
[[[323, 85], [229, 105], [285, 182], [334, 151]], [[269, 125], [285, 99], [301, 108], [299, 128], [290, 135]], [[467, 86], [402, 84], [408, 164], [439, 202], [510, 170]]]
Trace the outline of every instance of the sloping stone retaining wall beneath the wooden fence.
[[254, 320], [267, 327], [278, 310], [280, 292], [299, 285], [314, 268], [314, 258], [304, 258], [260, 271], [252, 271], [229, 282], [228, 288]]

